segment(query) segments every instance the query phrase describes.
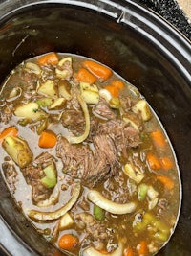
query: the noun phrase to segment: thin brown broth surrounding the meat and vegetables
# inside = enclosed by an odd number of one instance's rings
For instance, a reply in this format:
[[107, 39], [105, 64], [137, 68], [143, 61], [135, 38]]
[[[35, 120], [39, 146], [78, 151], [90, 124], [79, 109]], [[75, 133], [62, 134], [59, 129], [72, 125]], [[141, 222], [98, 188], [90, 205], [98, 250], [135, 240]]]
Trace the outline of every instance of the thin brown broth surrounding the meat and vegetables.
[[[86, 58], [75, 56], [71, 54], [57, 54], [58, 58], [65, 58], [65, 57], [72, 57], [73, 58], [73, 77], [68, 79], [68, 81], [71, 81], [71, 79], [74, 80], [74, 74], [78, 71], [78, 69], [82, 66], [82, 63]], [[36, 58], [28, 59], [27, 62], [37, 63]], [[24, 96], [24, 92], [28, 91], [29, 96], [29, 88], [27, 86], [30, 86], [30, 82], [23, 81], [21, 79], [22, 70], [25, 68], [25, 64], [21, 63], [19, 66], [17, 66], [14, 71], [11, 72], [10, 77], [7, 81], [4, 82], [2, 86], [0, 101], [2, 105], [0, 106], [0, 111], [5, 112], [6, 109], [8, 110], [8, 107], [17, 107], [17, 105], [24, 104], [27, 102], [30, 102], [31, 99], [26, 99]], [[42, 66], [42, 70], [45, 70], [46, 76], [49, 76], [49, 80], [52, 78], [52, 69], [55, 69], [55, 66]], [[26, 73], [26, 71], [24, 71]], [[53, 71], [54, 72], [54, 71]], [[46, 76], [43, 80], [46, 81]], [[38, 79], [37, 77], [35, 78]], [[125, 88], [121, 91], [121, 95], [128, 96], [131, 101], [132, 105], [135, 105], [139, 100], [143, 99], [143, 97], [138, 93], [138, 90], [130, 84], [128, 81], [124, 81], [121, 77], [119, 77], [115, 72], [113, 72], [112, 76], [106, 80], [106, 81], [99, 81], [96, 80], [96, 84], [98, 88], [104, 88], [106, 85], [110, 84], [113, 80], [120, 80], [125, 83]], [[9, 95], [13, 88], [20, 87], [22, 89], [22, 94], [20, 97], [18, 97], [15, 100], [8, 100]], [[42, 95], [39, 96], [35, 88], [32, 88], [32, 101], [36, 98], [42, 98]], [[43, 96], [46, 97], [46, 96]], [[119, 96], [120, 98], [120, 96]], [[5, 102], [5, 105], [4, 105]], [[180, 213], [180, 174], [179, 174], [179, 168], [177, 165], [177, 160], [175, 157], [175, 153], [173, 151], [173, 148], [171, 146], [171, 143], [167, 137], [167, 134], [162, 127], [162, 125], [159, 122], [159, 118], [155, 114], [154, 110], [149, 106], [150, 111], [152, 113], [151, 119], [149, 119], [146, 122], [142, 122], [142, 130], [140, 129], [139, 135], [141, 143], [138, 145], [138, 147], [129, 147], [127, 149], [126, 156], [119, 155], [118, 160], [120, 161], [120, 166], [117, 168], [117, 175], [109, 176], [107, 179], [103, 179], [100, 182], [96, 183], [96, 186], [94, 189], [96, 191], [99, 191], [105, 198], [109, 198], [110, 200], [125, 203], [129, 201], [136, 201], [138, 203], [138, 206], [136, 210], [130, 214], [111, 214], [105, 211], [105, 218], [103, 221], [96, 221], [98, 224], [103, 224], [106, 226], [107, 232], [110, 234], [109, 241], [103, 240], [103, 248], [108, 249], [108, 251], [115, 250], [117, 247], [118, 239], [122, 240], [123, 243], [123, 249], [131, 247], [133, 248], [134, 255], [138, 255], [138, 244], [141, 241], [145, 241], [148, 245], [148, 254], [147, 255], [154, 255], [157, 253], [161, 246], [163, 246], [170, 238], [171, 234], [174, 231], [174, 228], [176, 226], [176, 223], [178, 221], [179, 213]], [[68, 137], [68, 135], [72, 134], [71, 131], [68, 130], [68, 128], [64, 128], [63, 125], [56, 119], [59, 118], [62, 110], [49, 110], [46, 107], [44, 107], [45, 111], [49, 113], [49, 127], [48, 129], [53, 130], [55, 134], [61, 134], [64, 137]], [[63, 107], [63, 109], [65, 109]], [[92, 105], [89, 105], [89, 111], [90, 115], [93, 117], [94, 113], [92, 113]], [[121, 118], [121, 112], [117, 109], [115, 110], [115, 113], [117, 114], [117, 119]], [[130, 111], [131, 108], [130, 108]], [[53, 117], [52, 117], [53, 115]], [[19, 117], [16, 117], [14, 114], [11, 115], [11, 118], [8, 123], [3, 122], [3, 115], [1, 115], [1, 123], [0, 123], [0, 130], [3, 131], [5, 128], [14, 126], [18, 128], [19, 130], [19, 137], [24, 139], [28, 142], [29, 147], [33, 153], [33, 158], [40, 155], [42, 152], [48, 151], [49, 153], [53, 154], [55, 158], [55, 163], [57, 166], [57, 182], [60, 188], [60, 197], [58, 202], [55, 205], [52, 205], [50, 207], [45, 208], [39, 208], [38, 206], [34, 205], [32, 202], [32, 187], [26, 182], [26, 179], [23, 176], [22, 170], [20, 170], [19, 166], [13, 163], [13, 161], [9, 158], [9, 161], [7, 160], [8, 153], [4, 151], [3, 148], [1, 148], [1, 156], [0, 160], [1, 163], [7, 161], [14, 165], [18, 176], [17, 176], [17, 182], [15, 183], [15, 192], [12, 194], [15, 201], [20, 205], [20, 207], [23, 210], [23, 213], [27, 216], [29, 221], [32, 221], [32, 224], [36, 227], [36, 229], [42, 233], [42, 235], [45, 236], [45, 238], [50, 241], [51, 243], [55, 244], [59, 247], [58, 241], [63, 234], [74, 234], [78, 237], [80, 243], [77, 244], [73, 249], [72, 252], [74, 252], [75, 255], [78, 255], [80, 251], [82, 251], [85, 247], [89, 245], [95, 245], [94, 244], [94, 236], [89, 236], [88, 239], [86, 239], [87, 236], [87, 230], [79, 228], [78, 225], [75, 224], [75, 217], [76, 214], [84, 212], [83, 208], [81, 207], [79, 201], [83, 201], [86, 205], [89, 207], [89, 211], [85, 210], [85, 212], [89, 212], [93, 217], [93, 203], [87, 198], [87, 195], [89, 193], [90, 188], [86, 185], [81, 186], [80, 196], [78, 198], [78, 201], [74, 204], [74, 207], [69, 211], [70, 215], [74, 219], [74, 224], [71, 225], [69, 228], [66, 228], [64, 230], [60, 230], [56, 233], [56, 236], [53, 237], [53, 229], [57, 225], [59, 220], [55, 221], [34, 221], [28, 217], [28, 211], [29, 209], [34, 210], [40, 210], [40, 211], [48, 211], [52, 212], [56, 209], [60, 208], [62, 205], [66, 204], [68, 200], [71, 198], [71, 195], [73, 193], [73, 186], [70, 185], [70, 183], [74, 182], [74, 177], [70, 176], [70, 173], [64, 173], [62, 171], [63, 163], [59, 157], [55, 155], [55, 147], [53, 149], [42, 149], [38, 146], [38, 138], [39, 134], [36, 133], [36, 130], [32, 130], [31, 125], [36, 125], [36, 123], [30, 123], [26, 126], [21, 126], [18, 124], [18, 121], [20, 120]], [[95, 118], [95, 116], [94, 116]], [[53, 123], [52, 123], [53, 122]], [[99, 119], [100, 123], [104, 123], [105, 121], [102, 119]], [[151, 139], [151, 132], [155, 130], [162, 131], [163, 136], [166, 139], [166, 145], [164, 148], [158, 148], [154, 145], [152, 139]], [[86, 141], [86, 144], [88, 144], [89, 141]], [[94, 149], [94, 145], [93, 149]], [[90, 147], [92, 147], [90, 146]], [[79, 146], [80, 147], [80, 146]], [[80, 148], [79, 148], [80, 151]], [[173, 163], [173, 167], [170, 170], [164, 170], [164, 168], [160, 168], [159, 170], [155, 170], [149, 167], [148, 162], [146, 161], [146, 155], [147, 153], [154, 153], [158, 158], [161, 157], [168, 157], [171, 159]], [[124, 173], [124, 165], [129, 161], [134, 163], [135, 166], [139, 167], [138, 161], [140, 162], [141, 168], [144, 170], [144, 178], [141, 182], [136, 183], [134, 180], [132, 180], [128, 175]], [[137, 161], [138, 160], [138, 161]], [[1, 168], [2, 169], [2, 168]], [[2, 170], [3, 172], [3, 170]], [[174, 183], [173, 189], [168, 189], [163, 185], [162, 182], [160, 182], [156, 176], [157, 175], [165, 175], [168, 176], [169, 179], [171, 179]], [[6, 181], [6, 178], [5, 178]], [[144, 183], [147, 186], [152, 187], [155, 191], [158, 193], [158, 202], [156, 206], [153, 209], [148, 209], [148, 200], [149, 196], [146, 195], [142, 201], [138, 200], [138, 186]], [[63, 188], [64, 190], [61, 189]], [[9, 186], [9, 184], [8, 184]], [[120, 192], [120, 190], [123, 190], [123, 193]], [[11, 192], [12, 193], [12, 192]], [[118, 194], [119, 193], [119, 194]], [[124, 195], [125, 193], [125, 195]], [[128, 194], [128, 197], [126, 195]], [[123, 198], [124, 196], [124, 198]], [[162, 199], [164, 205], [162, 205]], [[159, 202], [161, 206], [159, 206]], [[166, 203], [166, 204], [165, 204]], [[142, 228], [142, 231], [138, 231], [135, 228], [136, 220], [138, 218], [138, 215], [142, 218], [142, 216], [145, 215], [145, 213], [149, 213], [152, 215], [153, 220], [148, 222], [147, 225]], [[165, 240], [157, 239], [155, 236], [159, 233], [159, 225], [164, 225], [168, 229], [168, 235], [166, 235]], [[149, 231], [149, 226], [150, 230]], [[141, 229], [140, 228], [140, 229]], [[161, 231], [162, 233], [162, 231]], [[163, 233], [162, 233], [163, 234]], [[80, 248], [81, 244], [81, 248]]]

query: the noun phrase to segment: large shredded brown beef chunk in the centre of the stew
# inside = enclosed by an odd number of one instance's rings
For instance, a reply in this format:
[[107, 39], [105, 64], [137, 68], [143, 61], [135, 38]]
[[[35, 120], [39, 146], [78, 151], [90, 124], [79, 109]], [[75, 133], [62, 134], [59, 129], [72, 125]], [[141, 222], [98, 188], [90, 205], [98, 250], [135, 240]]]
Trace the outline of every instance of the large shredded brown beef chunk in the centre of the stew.
[[92, 147], [94, 150], [88, 145], [71, 145], [63, 137], [59, 138], [56, 147], [56, 155], [62, 159], [64, 172], [80, 178], [90, 187], [107, 175], [114, 175], [117, 164], [117, 150], [109, 135], [94, 137]]

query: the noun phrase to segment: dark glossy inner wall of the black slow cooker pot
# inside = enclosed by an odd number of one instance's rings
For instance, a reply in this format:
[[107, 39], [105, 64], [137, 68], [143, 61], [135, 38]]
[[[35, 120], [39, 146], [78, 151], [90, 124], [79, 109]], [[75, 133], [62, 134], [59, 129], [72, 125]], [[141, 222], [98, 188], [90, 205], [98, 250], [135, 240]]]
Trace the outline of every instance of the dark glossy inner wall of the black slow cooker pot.
[[[78, 54], [105, 63], [135, 84], [159, 115], [178, 156], [185, 197], [176, 232], [159, 255], [189, 255], [187, 216], [191, 203], [186, 206], [185, 199], [189, 190], [186, 176], [191, 180], [190, 172], [187, 174], [191, 160], [185, 152], [189, 150], [188, 139], [191, 141], [191, 91], [187, 81], [163, 52], [138, 31], [106, 14], [61, 4], [29, 6], [1, 20], [0, 81], [24, 59], [50, 51]], [[29, 251], [41, 255], [54, 251], [10, 200], [2, 178], [0, 193], [0, 213], [29, 245]]]

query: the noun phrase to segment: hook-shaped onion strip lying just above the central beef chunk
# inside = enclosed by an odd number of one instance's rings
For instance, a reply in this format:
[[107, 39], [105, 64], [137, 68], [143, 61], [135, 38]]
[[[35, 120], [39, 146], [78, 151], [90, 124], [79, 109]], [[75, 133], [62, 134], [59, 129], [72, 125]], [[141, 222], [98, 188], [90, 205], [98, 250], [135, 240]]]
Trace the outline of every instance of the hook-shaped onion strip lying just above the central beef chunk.
[[83, 112], [84, 112], [86, 128], [82, 135], [76, 136], [76, 137], [70, 136], [67, 138], [68, 141], [72, 144], [78, 144], [78, 143], [83, 142], [88, 137], [89, 132], [90, 132], [90, 115], [89, 115], [89, 111], [88, 111], [88, 106], [80, 95], [77, 95], [77, 99], [79, 101], [79, 104], [81, 105]]

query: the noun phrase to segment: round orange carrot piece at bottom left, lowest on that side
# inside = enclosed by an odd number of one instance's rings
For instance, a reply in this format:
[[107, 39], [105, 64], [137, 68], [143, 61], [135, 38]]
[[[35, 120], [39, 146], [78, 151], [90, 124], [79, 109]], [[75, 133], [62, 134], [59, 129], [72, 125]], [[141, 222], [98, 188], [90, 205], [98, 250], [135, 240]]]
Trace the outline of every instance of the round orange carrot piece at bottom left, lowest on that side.
[[79, 239], [72, 234], [64, 234], [58, 241], [61, 249], [72, 250], [79, 243]]

